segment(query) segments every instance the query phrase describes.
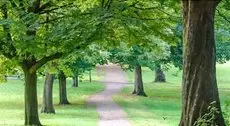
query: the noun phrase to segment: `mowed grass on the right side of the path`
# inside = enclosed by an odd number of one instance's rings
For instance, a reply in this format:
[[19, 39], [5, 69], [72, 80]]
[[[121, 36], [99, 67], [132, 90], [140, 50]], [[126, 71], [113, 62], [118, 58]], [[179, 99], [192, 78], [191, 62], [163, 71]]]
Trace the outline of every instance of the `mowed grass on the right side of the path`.
[[[172, 68], [165, 72], [166, 83], [154, 83], [154, 72], [143, 68], [145, 93], [148, 97], [131, 95], [133, 84], [128, 84], [114, 100], [127, 112], [133, 126], [178, 126], [181, 116], [182, 73]], [[217, 81], [223, 111], [225, 102], [230, 101], [230, 62], [217, 65]], [[133, 72], [127, 72], [133, 82]]]

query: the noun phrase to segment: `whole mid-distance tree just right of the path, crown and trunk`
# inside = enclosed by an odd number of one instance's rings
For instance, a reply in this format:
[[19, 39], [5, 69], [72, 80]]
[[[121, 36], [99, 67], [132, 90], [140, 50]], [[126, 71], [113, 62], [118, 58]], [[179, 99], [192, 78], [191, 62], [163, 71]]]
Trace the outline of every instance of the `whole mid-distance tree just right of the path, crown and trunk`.
[[164, 41], [150, 37], [152, 43], [149, 43], [147, 47], [141, 47], [139, 45], [133, 45], [128, 47], [125, 43], [122, 43], [119, 48], [110, 50], [110, 61], [113, 63], [121, 64], [125, 70], [134, 69], [134, 90], [133, 94], [140, 96], [147, 96], [144, 92], [142, 71], [141, 67], [149, 67], [154, 69], [155, 61], [164, 59], [167, 57], [168, 45]]

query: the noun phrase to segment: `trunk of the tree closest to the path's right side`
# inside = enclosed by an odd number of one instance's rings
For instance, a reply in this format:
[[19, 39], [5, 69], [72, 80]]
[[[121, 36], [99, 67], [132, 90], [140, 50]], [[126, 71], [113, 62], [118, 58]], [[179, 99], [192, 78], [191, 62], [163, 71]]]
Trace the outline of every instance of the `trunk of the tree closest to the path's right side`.
[[136, 66], [134, 76], [135, 76], [135, 81], [134, 81], [133, 94], [140, 95], [140, 96], [147, 96], [144, 92], [141, 66]]

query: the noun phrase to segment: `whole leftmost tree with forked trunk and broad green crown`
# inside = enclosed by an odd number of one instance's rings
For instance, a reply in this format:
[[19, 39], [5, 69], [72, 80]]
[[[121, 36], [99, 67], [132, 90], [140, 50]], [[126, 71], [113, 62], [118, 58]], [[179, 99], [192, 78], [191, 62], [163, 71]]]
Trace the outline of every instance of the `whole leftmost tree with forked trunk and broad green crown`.
[[37, 110], [37, 70], [49, 61], [87, 46], [101, 27], [97, 19], [70, 5], [74, 5], [71, 0], [0, 2], [0, 53], [23, 70], [25, 125], [41, 125]]

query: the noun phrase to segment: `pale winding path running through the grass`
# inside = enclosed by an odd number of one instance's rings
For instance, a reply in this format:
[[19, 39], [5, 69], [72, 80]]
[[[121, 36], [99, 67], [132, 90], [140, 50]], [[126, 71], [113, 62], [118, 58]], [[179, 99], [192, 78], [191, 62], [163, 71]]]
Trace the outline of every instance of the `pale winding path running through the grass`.
[[115, 65], [98, 66], [97, 70], [99, 74], [105, 72], [102, 82], [106, 88], [103, 92], [91, 96], [88, 104], [96, 105], [100, 115], [99, 126], [131, 126], [126, 119], [126, 113], [112, 99], [112, 96], [119, 93], [127, 84], [124, 73]]

